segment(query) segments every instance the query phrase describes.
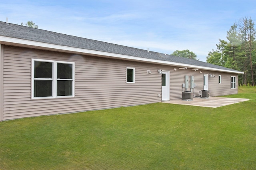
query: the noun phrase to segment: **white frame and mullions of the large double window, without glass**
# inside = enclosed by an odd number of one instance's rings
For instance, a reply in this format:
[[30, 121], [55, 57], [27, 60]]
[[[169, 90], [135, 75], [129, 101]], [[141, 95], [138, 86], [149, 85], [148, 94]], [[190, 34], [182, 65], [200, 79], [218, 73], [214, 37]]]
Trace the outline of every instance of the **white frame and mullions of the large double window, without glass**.
[[[42, 62], [50, 62], [53, 63], [52, 71], [53, 71], [53, 78], [46, 79], [46, 80], [53, 80], [52, 83], [52, 96], [49, 97], [34, 97], [34, 61], [42, 61]], [[65, 63], [65, 64], [72, 64], [72, 77], [73, 79], [57, 79], [57, 63]], [[55, 99], [55, 98], [70, 98], [75, 97], [75, 63], [74, 62], [67, 62], [67, 61], [55, 61], [55, 60], [46, 60], [46, 59], [32, 59], [31, 64], [31, 99]], [[42, 79], [41, 79], [42, 80]], [[57, 96], [57, 80], [72, 80], [72, 95], [71, 96]]]

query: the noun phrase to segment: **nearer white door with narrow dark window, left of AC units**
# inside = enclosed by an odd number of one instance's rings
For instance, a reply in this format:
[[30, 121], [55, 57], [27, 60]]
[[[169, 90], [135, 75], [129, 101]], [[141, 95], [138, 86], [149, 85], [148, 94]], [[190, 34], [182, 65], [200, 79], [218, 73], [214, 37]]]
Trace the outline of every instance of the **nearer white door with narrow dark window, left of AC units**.
[[170, 100], [170, 71], [162, 71], [162, 101]]

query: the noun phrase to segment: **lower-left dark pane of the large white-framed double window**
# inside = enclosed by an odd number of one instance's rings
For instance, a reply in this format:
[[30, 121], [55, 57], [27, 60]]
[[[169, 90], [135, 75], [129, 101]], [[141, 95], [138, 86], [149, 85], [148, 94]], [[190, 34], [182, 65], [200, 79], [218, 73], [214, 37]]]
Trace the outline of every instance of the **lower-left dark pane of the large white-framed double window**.
[[34, 80], [34, 97], [52, 96], [52, 80]]

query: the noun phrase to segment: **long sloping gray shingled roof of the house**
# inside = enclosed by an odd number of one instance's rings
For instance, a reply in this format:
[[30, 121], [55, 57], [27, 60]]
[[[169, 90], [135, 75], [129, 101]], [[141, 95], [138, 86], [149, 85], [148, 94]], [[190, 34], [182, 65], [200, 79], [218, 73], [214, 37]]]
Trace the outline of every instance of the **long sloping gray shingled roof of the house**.
[[[198, 61], [194, 59], [188, 59], [184, 57], [177, 57], [174, 55], [166, 55], [164, 53], [157, 53], [154, 51], [148, 52], [144, 49], [138, 49], [133, 47], [127, 47], [124, 45], [117, 45], [113, 43], [101, 42], [91, 40], [87, 38], [80, 38], [76, 36], [70, 36], [66, 34], [60, 34], [56, 32], [50, 32], [37, 28], [30, 28], [26, 26], [20, 26], [17, 24], [10, 24], [6, 22], [0, 22], [0, 43], [4, 43], [2, 38], [14, 38], [18, 40], [28, 40], [32, 42], [48, 43], [53, 45], [61, 45], [66, 47], [74, 47], [79, 49], [88, 49], [93, 51], [102, 51], [106, 53], [127, 55], [132, 57], [139, 57], [141, 59], [152, 59], [158, 61], [166, 61], [171, 63], [178, 63], [179, 65], [193, 65], [196, 67], [208, 67], [209, 69], [222, 70], [233, 73], [243, 73], [234, 69], [221, 67], [218, 65]], [[160, 62], [161, 63], [161, 62]]]

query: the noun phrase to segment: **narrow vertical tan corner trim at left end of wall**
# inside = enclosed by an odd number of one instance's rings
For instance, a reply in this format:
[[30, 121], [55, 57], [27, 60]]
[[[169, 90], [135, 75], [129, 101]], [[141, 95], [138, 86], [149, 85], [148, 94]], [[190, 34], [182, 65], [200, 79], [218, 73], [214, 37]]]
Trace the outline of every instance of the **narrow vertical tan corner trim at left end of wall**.
[[4, 120], [4, 46], [0, 44], [0, 122]]

